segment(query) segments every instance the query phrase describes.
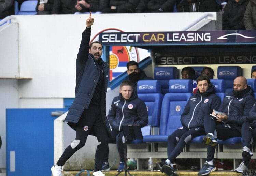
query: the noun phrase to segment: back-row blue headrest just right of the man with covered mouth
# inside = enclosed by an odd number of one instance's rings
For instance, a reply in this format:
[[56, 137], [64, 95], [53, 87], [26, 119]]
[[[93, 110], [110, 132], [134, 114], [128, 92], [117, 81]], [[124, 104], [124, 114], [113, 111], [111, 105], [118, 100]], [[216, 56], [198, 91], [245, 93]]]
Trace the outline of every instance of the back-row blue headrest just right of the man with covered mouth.
[[155, 67], [154, 78], [158, 80], [178, 79], [177, 67]]

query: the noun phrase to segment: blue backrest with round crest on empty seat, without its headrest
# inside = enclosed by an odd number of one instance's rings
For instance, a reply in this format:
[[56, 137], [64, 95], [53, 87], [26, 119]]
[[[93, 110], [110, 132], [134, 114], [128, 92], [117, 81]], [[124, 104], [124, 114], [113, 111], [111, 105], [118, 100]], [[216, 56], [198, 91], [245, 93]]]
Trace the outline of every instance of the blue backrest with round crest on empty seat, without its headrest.
[[[190, 91], [192, 92], [192, 91]], [[192, 93], [167, 93], [163, 97], [159, 135], [170, 135], [182, 127], [181, 114]]]

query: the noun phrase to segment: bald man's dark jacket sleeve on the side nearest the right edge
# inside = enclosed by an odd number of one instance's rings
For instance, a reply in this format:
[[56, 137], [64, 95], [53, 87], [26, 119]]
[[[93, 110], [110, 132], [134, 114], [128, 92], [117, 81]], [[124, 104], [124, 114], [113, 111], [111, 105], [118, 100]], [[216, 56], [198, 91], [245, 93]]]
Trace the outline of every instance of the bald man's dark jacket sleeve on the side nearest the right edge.
[[230, 122], [232, 124], [237, 124], [237, 125], [242, 125], [244, 122], [250, 122], [248, 120], [249, 116], [249, 111], [253, 107], [253, 104], [255, 103], [255, 99], [250, 96], [247, 97], [246, 101], [244, 102], [244, 109], [243, 109], [243, 116], [233, 116], [233, 115], [228, 115], [228, 120], [227, 122]]

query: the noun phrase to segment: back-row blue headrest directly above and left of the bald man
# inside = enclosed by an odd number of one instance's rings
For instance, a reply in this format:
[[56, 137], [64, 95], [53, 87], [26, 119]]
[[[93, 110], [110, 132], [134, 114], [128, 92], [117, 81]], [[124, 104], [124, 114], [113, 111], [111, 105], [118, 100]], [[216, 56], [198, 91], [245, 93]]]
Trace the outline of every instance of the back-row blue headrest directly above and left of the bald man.
[[242, 69], [239, 66], [219, 66], [218, 79], [235, 79], [242, 76]]

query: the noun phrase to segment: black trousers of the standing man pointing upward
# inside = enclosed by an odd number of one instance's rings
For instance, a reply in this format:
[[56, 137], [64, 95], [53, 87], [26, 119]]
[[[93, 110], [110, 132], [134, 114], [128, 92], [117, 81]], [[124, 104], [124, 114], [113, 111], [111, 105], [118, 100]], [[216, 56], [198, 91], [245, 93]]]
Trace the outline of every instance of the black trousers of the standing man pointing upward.
[[104, 146], [108, 145], [108, 134], [100, 112], [100, 106], [93, 104], [90, 104], [89, 108], [84, 110], [76, 128], [75, 140], [64, 150], [57, 162], [59, 166], [63, 166], [77, 150], [85, 145], [89, 132], [93, 130], [98, 140], [98, 146], [95, 153], [94, 171], [101, 170], [106, 152], [106, 148], [104, 148]]

